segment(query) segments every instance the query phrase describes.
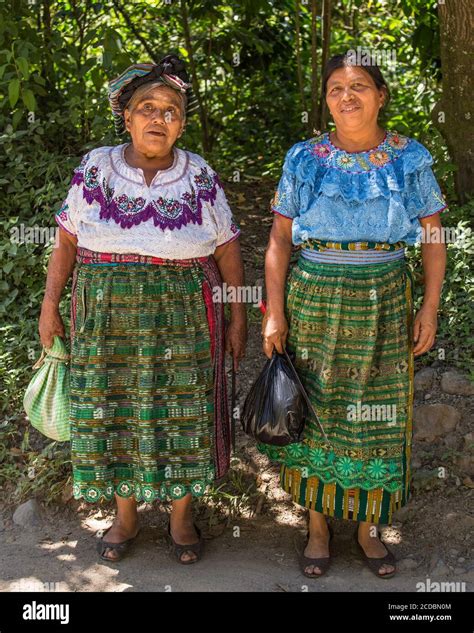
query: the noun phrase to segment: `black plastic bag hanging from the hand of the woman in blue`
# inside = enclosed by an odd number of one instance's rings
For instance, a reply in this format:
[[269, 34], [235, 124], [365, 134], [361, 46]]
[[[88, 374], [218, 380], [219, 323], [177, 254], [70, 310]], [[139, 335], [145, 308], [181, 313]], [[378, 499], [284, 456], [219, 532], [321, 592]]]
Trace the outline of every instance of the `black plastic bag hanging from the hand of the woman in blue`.
[[245, 399], [244, 432], [264, 444], [293, 444], [301, 440], [310, 411], [327, 440], [288, 353], [274, 350]]

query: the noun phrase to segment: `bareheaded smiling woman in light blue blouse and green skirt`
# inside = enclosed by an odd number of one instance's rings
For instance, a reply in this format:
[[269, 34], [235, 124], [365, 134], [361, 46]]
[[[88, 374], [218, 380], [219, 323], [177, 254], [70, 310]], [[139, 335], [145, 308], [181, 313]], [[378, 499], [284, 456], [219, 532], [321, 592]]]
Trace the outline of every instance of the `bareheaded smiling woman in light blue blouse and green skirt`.
[[[326, 517], [357, 521], [354, 537], [380, 578], [395, 573], [378, 524], [409, 498], [413, 356], [433, 345], [444, 244], [422, 243], [424, 300], [412, 318], [404, 247], [441, 233], [446, 208], [429, 151], [378, 123], [389, 98], [375, 65], [333, 57], [324, 91], [335, 131], [286, 155], [266, 254], [263, 347], [286, 345], [325, 427], [301, 443], [259, 444], [281, 462], [281, 485], [309, 509], [302, 572], [329, 567]], [[292, 244], [300, 258], [287, 278]]]

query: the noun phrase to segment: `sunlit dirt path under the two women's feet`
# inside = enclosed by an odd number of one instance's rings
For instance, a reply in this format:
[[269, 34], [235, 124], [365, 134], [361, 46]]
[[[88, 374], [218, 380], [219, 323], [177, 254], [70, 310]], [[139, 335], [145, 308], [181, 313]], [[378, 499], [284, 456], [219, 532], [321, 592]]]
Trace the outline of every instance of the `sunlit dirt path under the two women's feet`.
[[[268, 473], [267, 473], [268, 474]], [[268, 485], [276, 484], [274, 474]], [[284, 497], [278, 499], [274, 497]], [[142, 506], [142, 531], [133, 555], [120, 565], [100, 561], [95, 552], [95, 535], [106, 529], [108, 511], [75, 512], [71, 508], [43, 513], [42, 527], [34, 530], [10, 525], [0, 533], [0, 591], [41, 591], [43, 584], [58, 591], [417, 591], [417, 583], [464, 582], [472, 591], [474, 572], [454, 575], [439, 567], [430, 572], [432, 559], [440, 553], [413, 528], [386, 528], [385, 538], [402, 571], [381, 581], [367, 570], [351, 544], [353, 524], [333, 521], [334, 561], [319, 580], [306, 579], [299, 572], [297, 548], [304, 538], [304, 513], [279, 494], [270, 493], [271, 511], [253, 518], [231, 519], [211, 530], [205, 555], [192, 567], [178, 565], [169, 554], [166, 539], [167, 513], [163, 507]], [[270, 499], [269, 499], [270, 501]], [[75, 502], [73, 502], [74, 505]], [[223, 532], [219, 536], [212, 533]], [[415, 566], [415, 569], [412, 567]], [[448, 573], [446, 573], [448, 571]], [[54, 583], [54, 585], [51, 585]]]

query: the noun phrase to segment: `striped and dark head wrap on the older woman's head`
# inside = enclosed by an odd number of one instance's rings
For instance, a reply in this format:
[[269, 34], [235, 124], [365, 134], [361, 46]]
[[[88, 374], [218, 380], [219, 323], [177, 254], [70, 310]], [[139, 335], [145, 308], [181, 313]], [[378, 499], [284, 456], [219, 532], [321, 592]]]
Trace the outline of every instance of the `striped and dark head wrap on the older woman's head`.
[[192, 84], [179, 57], [167, 55], [158, 64], [133, 64], [109, 83], [109, 103], [118, 135], [125, 132], [124, 111], [133, 93], [151, 81], [161, 81], [186, 95], [186, 117], [197, 110], [198, 103]]

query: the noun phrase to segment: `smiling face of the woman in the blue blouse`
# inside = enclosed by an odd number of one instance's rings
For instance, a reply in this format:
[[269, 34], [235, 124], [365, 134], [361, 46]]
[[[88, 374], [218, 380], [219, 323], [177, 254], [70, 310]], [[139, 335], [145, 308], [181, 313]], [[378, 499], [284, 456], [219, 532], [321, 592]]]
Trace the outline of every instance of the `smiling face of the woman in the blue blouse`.
[[336, 128], [358, 130], [373, 126], [386, 96], [363, 68], [338, 68], [326, 84], [326, 103]]

